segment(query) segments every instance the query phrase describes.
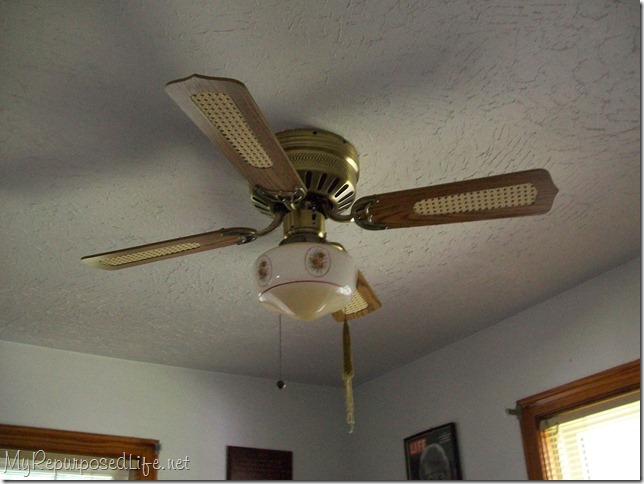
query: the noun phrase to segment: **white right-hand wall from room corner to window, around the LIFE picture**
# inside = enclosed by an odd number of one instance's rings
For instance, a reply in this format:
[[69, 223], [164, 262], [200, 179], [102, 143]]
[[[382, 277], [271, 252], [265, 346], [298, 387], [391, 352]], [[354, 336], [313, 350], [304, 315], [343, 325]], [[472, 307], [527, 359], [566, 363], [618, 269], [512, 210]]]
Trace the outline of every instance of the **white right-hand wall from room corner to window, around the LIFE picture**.
[[463, 477], [526, 479], [523, 397], [640, 357], [635, 259], [355, 392], [352, 479], [406, 478], [403, 439], [455, 422]]

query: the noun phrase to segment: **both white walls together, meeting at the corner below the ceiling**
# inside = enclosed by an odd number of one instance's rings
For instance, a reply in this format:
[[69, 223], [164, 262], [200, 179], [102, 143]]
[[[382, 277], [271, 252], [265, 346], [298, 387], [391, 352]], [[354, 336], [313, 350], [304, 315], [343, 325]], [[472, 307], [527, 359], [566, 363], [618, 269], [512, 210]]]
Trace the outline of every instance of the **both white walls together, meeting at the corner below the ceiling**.
[[159, 439], [165, 479], [225, 478], [226, 445], [294, 452], [297, 480], [405, 479], [403, 439], [456, 422], [463, 474], [525, 479], [516, 400], [640, 354], [640, 259], [355, 389], [0, 341], [0, 423]]

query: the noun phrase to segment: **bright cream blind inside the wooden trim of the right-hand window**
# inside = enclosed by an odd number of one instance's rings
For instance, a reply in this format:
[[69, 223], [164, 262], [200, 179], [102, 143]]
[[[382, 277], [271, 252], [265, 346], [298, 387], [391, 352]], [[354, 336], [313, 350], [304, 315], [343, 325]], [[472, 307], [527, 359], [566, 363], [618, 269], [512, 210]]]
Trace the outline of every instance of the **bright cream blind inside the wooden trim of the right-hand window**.
[[640, 392], [541, 422], [549, 479], [640, 479]]

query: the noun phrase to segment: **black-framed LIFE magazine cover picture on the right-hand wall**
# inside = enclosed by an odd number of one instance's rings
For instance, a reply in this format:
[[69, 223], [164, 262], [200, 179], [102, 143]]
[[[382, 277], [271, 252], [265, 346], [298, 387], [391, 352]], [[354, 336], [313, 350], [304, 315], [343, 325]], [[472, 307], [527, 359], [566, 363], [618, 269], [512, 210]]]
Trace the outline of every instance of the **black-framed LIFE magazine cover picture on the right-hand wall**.
[[454, 422], [407, 437], [405, 461], [412, 481], [462, 479]]

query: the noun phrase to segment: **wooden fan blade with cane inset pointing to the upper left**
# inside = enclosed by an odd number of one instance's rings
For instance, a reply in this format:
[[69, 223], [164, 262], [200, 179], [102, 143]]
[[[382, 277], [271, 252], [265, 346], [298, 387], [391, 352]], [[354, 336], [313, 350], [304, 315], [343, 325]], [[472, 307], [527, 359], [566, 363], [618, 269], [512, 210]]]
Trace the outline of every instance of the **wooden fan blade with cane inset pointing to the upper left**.
[[244, 84], [235, 79], [195, 74], [168, 83], [166, 92], [253, 188], [306, 192]]

